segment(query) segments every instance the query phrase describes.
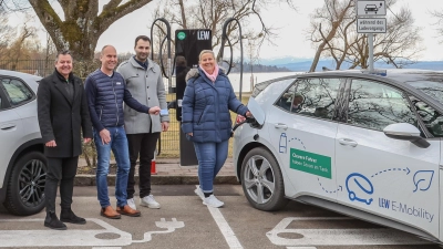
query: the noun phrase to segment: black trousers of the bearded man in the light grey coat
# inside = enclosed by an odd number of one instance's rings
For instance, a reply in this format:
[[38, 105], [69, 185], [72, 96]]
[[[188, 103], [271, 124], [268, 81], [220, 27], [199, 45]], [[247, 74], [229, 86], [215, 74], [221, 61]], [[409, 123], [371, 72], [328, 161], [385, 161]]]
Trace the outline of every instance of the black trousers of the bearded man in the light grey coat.
[[135, 164], [140, 155], [140, 198], [151, 194], [151, 162], [154, 158], [155, 146], [159, 133], [126, 134], [130, 148], [131, 169], [127, 179], [127, 199], [134, 198], [135, 193]]

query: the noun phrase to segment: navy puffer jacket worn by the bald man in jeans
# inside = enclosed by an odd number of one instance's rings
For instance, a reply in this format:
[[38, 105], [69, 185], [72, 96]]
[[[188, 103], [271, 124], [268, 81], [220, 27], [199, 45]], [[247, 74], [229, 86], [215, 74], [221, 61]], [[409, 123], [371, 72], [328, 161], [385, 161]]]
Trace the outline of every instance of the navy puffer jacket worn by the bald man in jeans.
[[117, 72], [109, 76], [97, 69], [87, 75], [84, 84], [91, 121], [99, 132], [105, 127], [124, 125], [123, 102], [147, 115], [150, 107], [132, 97], [123, 76]]

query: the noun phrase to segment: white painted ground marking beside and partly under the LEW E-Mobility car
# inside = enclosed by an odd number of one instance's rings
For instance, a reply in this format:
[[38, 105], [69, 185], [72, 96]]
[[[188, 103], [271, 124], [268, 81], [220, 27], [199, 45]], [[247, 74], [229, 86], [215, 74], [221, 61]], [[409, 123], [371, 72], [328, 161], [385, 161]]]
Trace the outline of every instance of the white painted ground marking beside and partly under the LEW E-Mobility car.
[[[346, 220], [346, 217], [288, 217], [284, 218], [266, 236], [274, 245], [278, 246], [365, 246], [365, 245], [426, 245], [430, 241], [422, 240], [414, 236], [405, 237], [405, 232], [387, 229], [289, 229], [287, 228], [292, 221], [291, 227], [297, 227], [298, 220]], [[287, 239], [279, 237], [279, 234], [298, 234], [302, 238]], [[296, 247], [298, 248], [298, 247]]]

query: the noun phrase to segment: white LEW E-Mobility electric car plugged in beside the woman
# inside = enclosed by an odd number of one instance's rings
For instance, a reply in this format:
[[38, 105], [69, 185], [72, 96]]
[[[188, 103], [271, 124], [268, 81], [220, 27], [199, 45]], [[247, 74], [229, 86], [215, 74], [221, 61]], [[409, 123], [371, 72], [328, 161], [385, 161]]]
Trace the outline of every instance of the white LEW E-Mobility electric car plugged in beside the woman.
[[358, 70], [257, 84], [234, 163], [257, 209], [288, 199], [443, 241], [443, 72]]

